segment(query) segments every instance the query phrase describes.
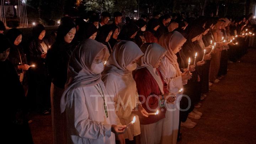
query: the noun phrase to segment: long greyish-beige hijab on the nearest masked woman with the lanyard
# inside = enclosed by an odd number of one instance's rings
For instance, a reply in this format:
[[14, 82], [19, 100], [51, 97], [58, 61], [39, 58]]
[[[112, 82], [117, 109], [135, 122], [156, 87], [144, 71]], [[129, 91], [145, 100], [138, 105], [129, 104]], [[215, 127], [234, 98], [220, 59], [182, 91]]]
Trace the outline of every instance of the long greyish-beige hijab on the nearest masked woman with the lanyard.
[[68, 101], [73, 99], [70, 91], [78, 87], [94, 86], [101, 81], [101, 74], [95, 75], [91, 72], [91, 64], [102, 50], [105, 57], [108, 49], [104, 44], [93, 39], [86, 39], [72, 53], [68, 64], [68, 80], [60, 101], [61, 113], [65, 111]]

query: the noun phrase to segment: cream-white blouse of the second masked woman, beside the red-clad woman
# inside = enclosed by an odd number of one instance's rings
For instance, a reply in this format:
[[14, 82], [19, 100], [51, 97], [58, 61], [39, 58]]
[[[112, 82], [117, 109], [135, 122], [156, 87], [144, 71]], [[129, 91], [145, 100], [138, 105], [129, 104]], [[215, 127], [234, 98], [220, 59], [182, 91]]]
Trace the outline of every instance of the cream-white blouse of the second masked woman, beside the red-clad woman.
[[140, 134], [139, 117], [132, 114], [132, 110], [140, 104], [136, 83], [132, 74], [115, 75], [107, 74], [104, 79], [104, 84], [109, 95], [114, 95], [112, 101], [116, 108], [116, 114], [122, 125], [127, 125], [136, 117], [136, 121], [132, 126], [129, 126], [124, 133], [124, 138], [133, 140], [133, 137]]

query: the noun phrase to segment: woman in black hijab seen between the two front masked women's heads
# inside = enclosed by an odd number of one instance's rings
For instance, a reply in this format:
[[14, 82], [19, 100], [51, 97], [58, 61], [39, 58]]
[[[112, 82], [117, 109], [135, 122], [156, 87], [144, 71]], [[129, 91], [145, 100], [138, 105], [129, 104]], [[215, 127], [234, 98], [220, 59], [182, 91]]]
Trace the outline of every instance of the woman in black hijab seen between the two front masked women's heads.
[[112, 52], [112, 47], [110, 46], [110, 43], [108, 41], [111, 38], [111, 35], [113, 33], [113, 30], [111, 29], [110, 25], [104, 25], [101, 28], [99, 28], [97, 36], [96, 36], [96, 41], [105, 44], [108, 48], [109, 53]]

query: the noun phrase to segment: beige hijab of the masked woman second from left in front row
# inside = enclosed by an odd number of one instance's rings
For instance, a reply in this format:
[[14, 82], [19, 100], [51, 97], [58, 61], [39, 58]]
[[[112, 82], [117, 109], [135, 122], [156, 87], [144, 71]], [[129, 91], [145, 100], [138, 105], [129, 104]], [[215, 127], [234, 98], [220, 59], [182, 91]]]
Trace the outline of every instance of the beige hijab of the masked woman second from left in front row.
[[137, 44], [131, 41], [120, 41], [113, 49], [107, 60], [102, 77], [108, 73], [115, 75], [131, 74], [132, 71], [126, 69], [126, 66], [143, 55]]

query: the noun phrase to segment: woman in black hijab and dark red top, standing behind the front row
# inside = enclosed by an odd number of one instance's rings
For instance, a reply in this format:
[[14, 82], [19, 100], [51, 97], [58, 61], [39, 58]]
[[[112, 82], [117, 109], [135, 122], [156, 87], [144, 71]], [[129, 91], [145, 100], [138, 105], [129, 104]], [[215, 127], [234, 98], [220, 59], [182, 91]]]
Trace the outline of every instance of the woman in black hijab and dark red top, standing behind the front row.
[[156, 18], [153, 18], [148, 22], [146, 31], [144, 32], [144, 37], [147, 43], [158, 43], [156, 31], [159, 27], [160, 27], [160, 22]]

